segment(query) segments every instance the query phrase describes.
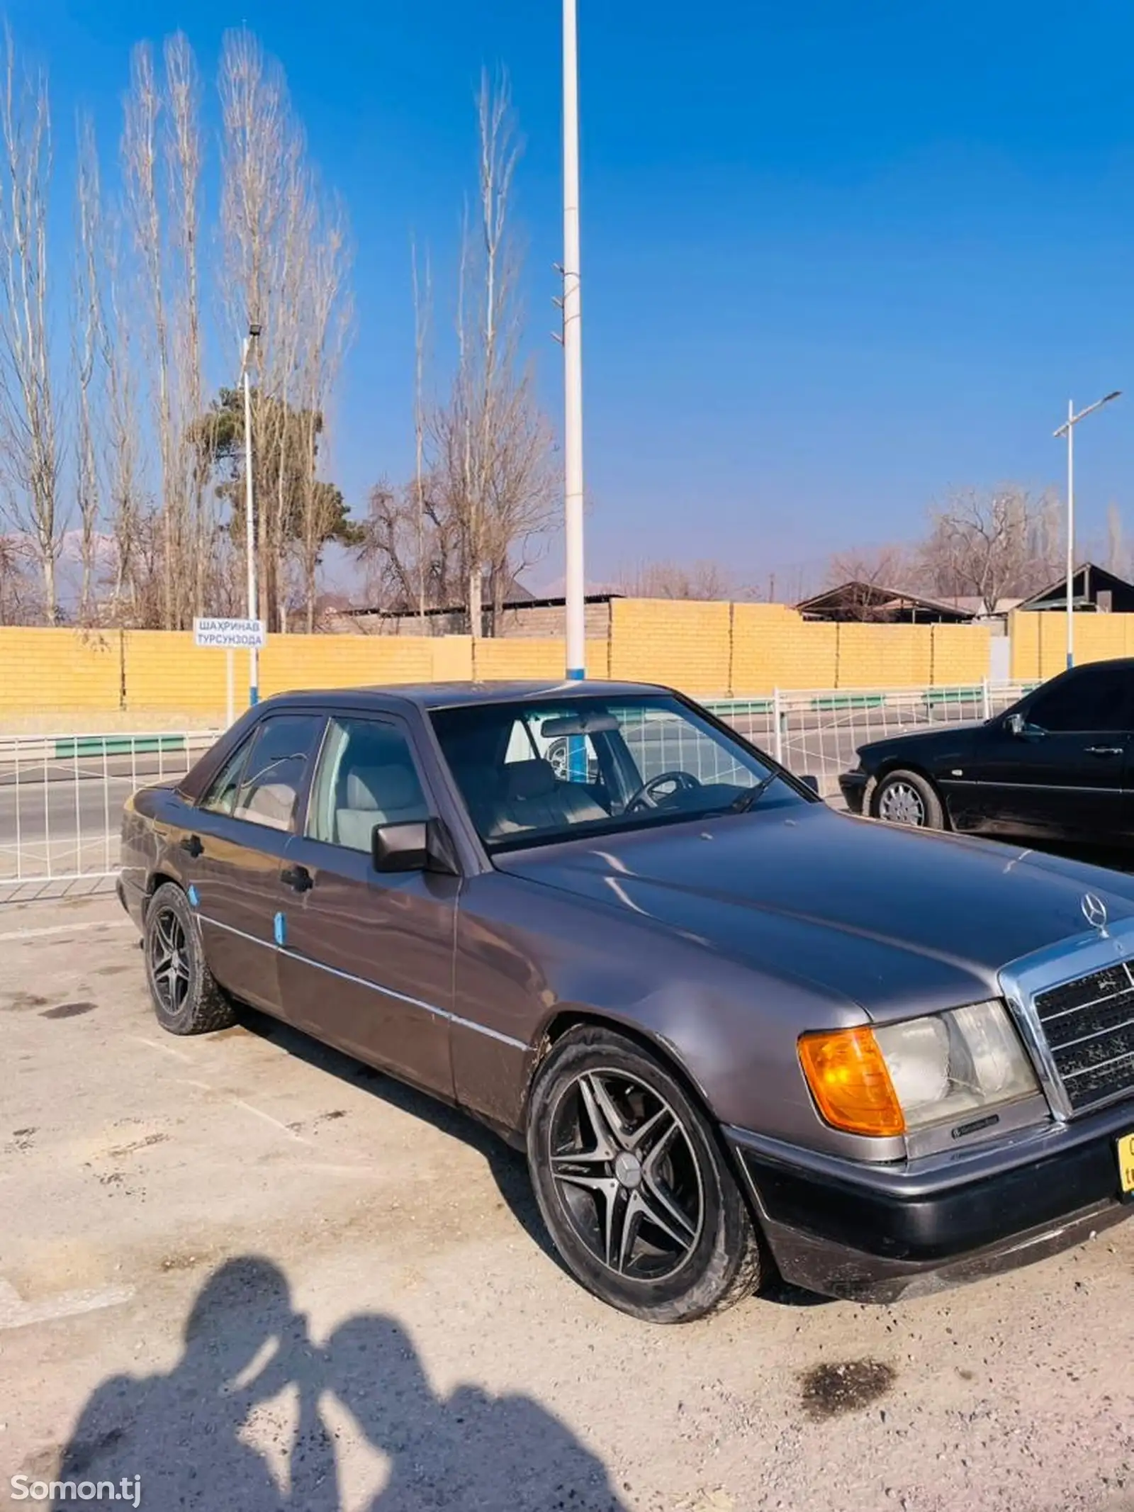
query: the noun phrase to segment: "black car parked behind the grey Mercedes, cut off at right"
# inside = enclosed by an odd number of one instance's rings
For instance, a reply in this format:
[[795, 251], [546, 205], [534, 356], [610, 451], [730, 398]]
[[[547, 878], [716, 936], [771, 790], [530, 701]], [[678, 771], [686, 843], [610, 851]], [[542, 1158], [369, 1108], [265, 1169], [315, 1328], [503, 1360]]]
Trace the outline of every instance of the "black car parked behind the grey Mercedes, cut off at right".
[[853, 813], [919, 829], [1134, 841], [1134, 659], [1075, 667], [983, 724], [859, 747]]

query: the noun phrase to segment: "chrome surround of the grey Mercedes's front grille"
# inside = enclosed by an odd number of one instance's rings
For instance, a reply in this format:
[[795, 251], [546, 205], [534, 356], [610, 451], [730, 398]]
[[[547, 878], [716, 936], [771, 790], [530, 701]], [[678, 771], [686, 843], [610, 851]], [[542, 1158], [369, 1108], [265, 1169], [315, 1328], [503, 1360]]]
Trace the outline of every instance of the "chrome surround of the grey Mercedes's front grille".
[[[1012, 1009], [1016, 1027], [1039, 1074], [1040, 1086], [1051, 1104], [1051, 1111], [1060, 1123], [1067, 1123], [1077, 1113], [1070, 1105], [1070, 1098], [1055, 1066], [1055, 1055], [1036, 1012], [1036, 993], [1061, 987], [1064, 983], [1087, 977], [1093, 971], [1104, 971], [1107, 966], [1125, 962], [1129, 956], [1134, 956], [1134, 921], [1125, 919], [1111, 925], [1105, 934], [1089, 930], [1086, 934], [1074, 934], [1057, 945], [1046, 945], [1031, 956], [1010, 962], [999, 972], [1001, 993]], [[1116, 1092], [1092, 1105], [1090, 1110], [1080, 1108], [1078, 1116], [1126, 1096], [1129, 1096], [1128, 1090]]]

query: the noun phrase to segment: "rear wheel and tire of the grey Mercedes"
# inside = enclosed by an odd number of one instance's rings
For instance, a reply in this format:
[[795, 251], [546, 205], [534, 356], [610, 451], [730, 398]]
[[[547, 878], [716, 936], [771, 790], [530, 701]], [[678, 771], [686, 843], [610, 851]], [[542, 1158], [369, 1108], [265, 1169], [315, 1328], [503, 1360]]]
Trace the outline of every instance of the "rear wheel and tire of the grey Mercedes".
[[189, 900], [172, 881], [162, 883], [150, 898], [142, 948], [145, 980], [163, 1030], [209, 1034], [236, 1022], [231, 1002], [206, 965]]

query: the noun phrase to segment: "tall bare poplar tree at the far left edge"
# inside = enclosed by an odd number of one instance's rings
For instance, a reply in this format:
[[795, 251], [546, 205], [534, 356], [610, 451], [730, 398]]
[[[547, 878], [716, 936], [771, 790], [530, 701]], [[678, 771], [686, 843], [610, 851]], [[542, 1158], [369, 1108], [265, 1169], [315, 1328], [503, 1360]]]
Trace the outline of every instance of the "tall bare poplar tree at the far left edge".
[[59, 618], [56, 567], [59, 416], [51, 389], [47, 307], [47, 189], [51, 116], [47, 80], [17, 68], [5, 29], [3, 207], [0, 209], [0, 467], [9, 520], [26, 538], [44, 582], [50, 623]]

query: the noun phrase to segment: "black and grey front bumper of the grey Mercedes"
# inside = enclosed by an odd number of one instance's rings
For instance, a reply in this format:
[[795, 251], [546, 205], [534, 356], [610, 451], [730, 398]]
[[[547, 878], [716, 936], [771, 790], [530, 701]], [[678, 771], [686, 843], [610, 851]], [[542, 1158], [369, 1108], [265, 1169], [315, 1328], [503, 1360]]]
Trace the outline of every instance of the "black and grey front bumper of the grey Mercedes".
[[783, 1279], [895, 1302], [1043, 1259], [1134, 1216], [1116, 1151], [1131, 1129], [1123, 1104], [984, 1152], [968, 1176], [957, 1161], [863, 1166], [726, 1132]]

